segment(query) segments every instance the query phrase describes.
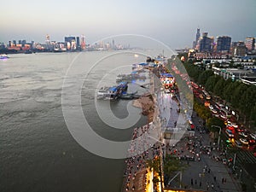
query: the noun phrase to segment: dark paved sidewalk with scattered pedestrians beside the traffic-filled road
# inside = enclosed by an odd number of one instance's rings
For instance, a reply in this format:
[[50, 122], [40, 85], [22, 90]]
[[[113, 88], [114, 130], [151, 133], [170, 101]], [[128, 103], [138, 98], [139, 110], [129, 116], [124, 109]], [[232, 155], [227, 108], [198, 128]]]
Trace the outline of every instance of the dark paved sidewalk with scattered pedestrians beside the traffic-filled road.
[[[176, 152], [180, 156], [187, 155], [195, 158], [195, 161], [187, 161], [189, 167], [183, 172], [183, 187], [186, 189], [205, 189], [212, 192], [240, 192], [240, 183], [229, 174], [228, 167], [215, 159], [215, 157], [220, 156], [220, 153], [217, 148], [211, 147], [209, 135], [203, 133], [199, 120], [198, 117], [194, 116], [193, 121], [198, 127], [198, 130], [195, 131], [195, 137], [191, 140], [183, 139], [166, 152], [169, 154]], [[207, 148], [207, 150], [203, 150], [203, 148]]]

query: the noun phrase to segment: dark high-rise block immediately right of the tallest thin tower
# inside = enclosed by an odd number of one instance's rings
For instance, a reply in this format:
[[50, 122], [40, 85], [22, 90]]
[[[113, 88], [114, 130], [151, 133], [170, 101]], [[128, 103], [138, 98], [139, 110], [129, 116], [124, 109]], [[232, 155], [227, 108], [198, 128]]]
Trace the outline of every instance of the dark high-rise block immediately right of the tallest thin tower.
[[214, 38], [209, 38], [208, 32], [203, 32], [202, 36], [198, 39], [196, 49], [199, 52], [212, 52]]

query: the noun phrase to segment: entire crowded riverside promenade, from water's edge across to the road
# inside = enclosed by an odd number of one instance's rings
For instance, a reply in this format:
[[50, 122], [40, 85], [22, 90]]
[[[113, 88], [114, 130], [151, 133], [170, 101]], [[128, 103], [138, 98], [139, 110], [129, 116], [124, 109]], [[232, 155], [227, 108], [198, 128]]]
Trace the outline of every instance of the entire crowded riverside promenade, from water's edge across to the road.
[[[147, 162], [156, 155], [165, 158], [166, 154], [176, 154], [187, 167], [180, 182], [166, 180], [164, 188], [180, 189], [182, 185], [183, 191], [241, 192], [240, 183], [230, 175], [227, 166], [216, 159], [221, 152], [206, 133], [202, 120], [193, 112], [190, 118], [196, 129], [187, 131], [189, 117], [185, 113], [178, 113], [186, 107], [177, 96], [161, 90], [154, 91], [154, 83], [151, 83], [154, 102], [142, 100], [141, 107], [154, 107], [154, 110], [148, 113], [148, 125], [134, 129], [128, 151], [130, 157], [125, 160], [122, 191], [160, 191], [160, 184], [153, 183], [154, 172], [147, 167]], [[151, 107], [145, 107], [149, 104]], [[172, 131], [172, 137], [168, 140], [164, 139], [166, 131]], [[184, 160], [187, 157], [190, 160]]]

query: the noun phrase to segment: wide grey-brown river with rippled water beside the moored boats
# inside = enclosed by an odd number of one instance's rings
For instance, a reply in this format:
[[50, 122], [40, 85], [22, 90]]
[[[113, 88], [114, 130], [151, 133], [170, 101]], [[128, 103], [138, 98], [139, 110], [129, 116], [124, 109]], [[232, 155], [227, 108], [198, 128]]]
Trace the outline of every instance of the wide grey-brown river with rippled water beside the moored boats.
[[[0, 61], [0, 191], [119, 192], [124, 160], [92, 154], [76, 142], [63, 117], [61, 93], [86, 77], [81, 104], [90, 125], [102, 137], [129, 140], [132, 128], [145, 124], [146, 117], [130, 129], [112, 129], [98, 117], [94, 94], [96, 86], [115, 84], [116, 74], [131, 72], [131, 64], [146, 57], [120, 51], [9, 56]], [[71, 66], [76, 67], [66, 77]], [[69, 95], [72, 108], [73, 92]], [[131, 101], [110, 105], [122, 119]]]

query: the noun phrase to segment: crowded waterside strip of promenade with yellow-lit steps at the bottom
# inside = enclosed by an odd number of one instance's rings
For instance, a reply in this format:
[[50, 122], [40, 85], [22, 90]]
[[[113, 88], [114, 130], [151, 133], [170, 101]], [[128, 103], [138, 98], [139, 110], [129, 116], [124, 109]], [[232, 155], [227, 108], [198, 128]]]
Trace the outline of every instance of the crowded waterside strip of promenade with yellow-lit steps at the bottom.
[[[155, 91], [154, 79], [150, 79], [151, 100], [143, 96], [134, 102], [136, 107], [143, 109], [148, 115], [148, 125], [137, 127], [133, 131], [128, 156], [125, 160], [126, 168], [122, 191], [154, 192], [160, 191], [160, 183], [153, 183], [154, 171], [147, 167], [148, 160], [162, 156], [166, 143], [162, 141], [162, 127], [170, 125], [169, 119], [177, 121], [170, 116], [171, 110], [177, 113], [177, 102], [171, 95], [163, 95], [163, 91]], [[153, 110], [152, 110], [153, 109]], [[168, 119], [168, 120], [167, 120]]]

